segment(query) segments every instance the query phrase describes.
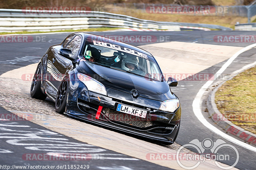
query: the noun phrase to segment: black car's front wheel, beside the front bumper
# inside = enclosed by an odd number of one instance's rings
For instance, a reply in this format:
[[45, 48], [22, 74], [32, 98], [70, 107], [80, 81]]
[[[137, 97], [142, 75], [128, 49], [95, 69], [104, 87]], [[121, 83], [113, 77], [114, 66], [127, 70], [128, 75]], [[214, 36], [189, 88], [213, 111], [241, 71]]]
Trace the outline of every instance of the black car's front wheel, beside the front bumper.
[[64, 80], [60, 84], [60, 88], [58, 90], [57, 97], [55, 100], [55, 111], [57, 113], [63, 113], [65, 111], [68, 97], [68, 87], [68, 78], [64, 78]]

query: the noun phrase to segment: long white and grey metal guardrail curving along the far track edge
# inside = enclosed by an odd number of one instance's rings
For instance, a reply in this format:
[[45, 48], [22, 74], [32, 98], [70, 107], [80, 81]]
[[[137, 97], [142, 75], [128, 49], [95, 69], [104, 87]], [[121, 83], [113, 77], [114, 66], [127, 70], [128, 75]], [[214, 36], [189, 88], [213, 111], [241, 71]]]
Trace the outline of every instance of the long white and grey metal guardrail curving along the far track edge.
[[0, 32], [56, 31], [85, 29], [89, 27], [146, 28], [180, 31], [180, 25], [232, 30], [220, 25], [151, 21], [100, 11], [76, 11], [75, 13], [44, 12], [29, 13], [18, 9], [0, 9]]

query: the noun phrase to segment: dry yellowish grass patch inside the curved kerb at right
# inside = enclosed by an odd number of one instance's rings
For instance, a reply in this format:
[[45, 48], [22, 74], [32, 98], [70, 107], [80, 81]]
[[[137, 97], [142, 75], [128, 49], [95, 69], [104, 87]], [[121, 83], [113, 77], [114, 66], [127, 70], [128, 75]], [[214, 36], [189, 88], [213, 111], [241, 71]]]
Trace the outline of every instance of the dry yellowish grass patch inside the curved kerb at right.
[[225, 82], [215, 94], [220, 112], [232, 123], [256, 134], [256, 67]]

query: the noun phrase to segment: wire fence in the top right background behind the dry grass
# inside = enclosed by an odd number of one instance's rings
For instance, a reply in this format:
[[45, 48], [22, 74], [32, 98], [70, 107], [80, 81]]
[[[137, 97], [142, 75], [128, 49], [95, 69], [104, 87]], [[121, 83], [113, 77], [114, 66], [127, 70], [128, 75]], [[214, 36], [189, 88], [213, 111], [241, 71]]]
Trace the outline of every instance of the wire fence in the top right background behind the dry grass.
[[247, 17], [248, 22], [256, 15], [256, 1], [250, 5], [238, 6], [202, 6], [177, 4], [144, 4], [144, 3], [118, 3], [112, 10], [138, 9], [148, 13], [182, 14], [182, 15], [209, 15], [209, 16], [240, 16]]

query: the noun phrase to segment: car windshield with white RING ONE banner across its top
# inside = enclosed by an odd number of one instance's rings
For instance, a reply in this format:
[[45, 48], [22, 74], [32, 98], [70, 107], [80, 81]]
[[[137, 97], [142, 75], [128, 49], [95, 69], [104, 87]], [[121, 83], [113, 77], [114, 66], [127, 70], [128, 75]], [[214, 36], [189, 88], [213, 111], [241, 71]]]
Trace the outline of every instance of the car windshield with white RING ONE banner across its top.
[[94, 64], [136, 74], [150, 80], [162, 81], [156, 62], [147, 54], [102, 41], [86, 42], [84, 58]]

